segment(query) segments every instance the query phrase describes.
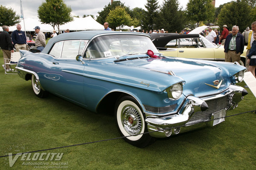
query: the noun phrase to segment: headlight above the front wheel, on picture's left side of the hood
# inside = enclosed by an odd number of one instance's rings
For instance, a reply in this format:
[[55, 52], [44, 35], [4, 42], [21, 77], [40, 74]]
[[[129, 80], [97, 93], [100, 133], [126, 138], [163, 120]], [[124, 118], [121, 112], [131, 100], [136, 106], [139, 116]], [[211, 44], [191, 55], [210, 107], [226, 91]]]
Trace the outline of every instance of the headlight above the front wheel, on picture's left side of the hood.
[[167, 96], [169, 99], [177, 100], [180, 99], [180, 96], [183, 93], [183, 83], [178, 82], [174, 85], [171, 85], [169, 88], [166, 88], [165, 92], [167, 92]]

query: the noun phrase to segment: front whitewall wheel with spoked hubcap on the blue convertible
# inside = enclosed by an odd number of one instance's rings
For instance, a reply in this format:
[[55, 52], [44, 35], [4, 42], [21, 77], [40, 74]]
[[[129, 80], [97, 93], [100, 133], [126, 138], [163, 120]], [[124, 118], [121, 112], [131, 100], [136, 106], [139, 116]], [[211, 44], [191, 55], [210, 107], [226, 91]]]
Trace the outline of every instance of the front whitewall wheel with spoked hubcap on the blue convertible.
[[147, 132], [145, 115], [138, 102], [131, 96], [122, 96], [115, 107], [116, 122], [119, 132], [125, 141], [137, 147], [145, 147], [154, 142]]

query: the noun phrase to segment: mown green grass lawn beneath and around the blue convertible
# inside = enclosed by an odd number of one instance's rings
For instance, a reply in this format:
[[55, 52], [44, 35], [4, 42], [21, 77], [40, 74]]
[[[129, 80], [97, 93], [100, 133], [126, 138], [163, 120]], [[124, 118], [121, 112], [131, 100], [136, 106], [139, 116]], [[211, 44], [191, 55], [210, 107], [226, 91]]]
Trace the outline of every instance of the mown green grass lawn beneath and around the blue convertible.
[[[227, 115], [256, 109], [255, 97], [246, 90], [249, 94]], [[31, 81], [5, 75], [0, 68], [0, 156], [119, 136], [113, 116], [92, 113], [51, 94], [40, 99]], [[66, 163], [63, 166], [69, 170], [256, 170], [256, 114], [228, 117], [214, 127], [159, 139], [143, 149], [116, 139], [38, 153], [63, 156], [60, 161], [23, 161], [19, 157], [11, 168], [9, 158], [4, 157], [0, 169], [46, 169], [26, 165], [41, 162], [49, 164], [46, 166]]]

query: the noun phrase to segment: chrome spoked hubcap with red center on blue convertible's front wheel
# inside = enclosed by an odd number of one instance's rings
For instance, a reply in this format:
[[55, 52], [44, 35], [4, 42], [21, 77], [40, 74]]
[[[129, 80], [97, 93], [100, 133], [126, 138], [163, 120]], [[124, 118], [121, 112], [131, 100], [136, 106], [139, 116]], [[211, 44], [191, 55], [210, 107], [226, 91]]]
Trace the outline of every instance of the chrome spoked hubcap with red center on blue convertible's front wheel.
[[140, 113], [131, 105], [126, 105], [121, 113], [122, 125], [130, 135], [137, 135], [141, 132], [142, 122]]

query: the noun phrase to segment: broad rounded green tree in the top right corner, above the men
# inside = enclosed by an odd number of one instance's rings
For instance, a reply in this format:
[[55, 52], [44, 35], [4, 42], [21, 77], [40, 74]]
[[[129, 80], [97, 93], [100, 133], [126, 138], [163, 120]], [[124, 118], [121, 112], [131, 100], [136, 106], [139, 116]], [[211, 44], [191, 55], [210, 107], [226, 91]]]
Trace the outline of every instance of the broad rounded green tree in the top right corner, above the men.
[[241, 1], [232, 1], [226, 4], [218, 15], [218, 26], [226, 24], [229, 29], [234, 25], [239, 26], [239, 30], [243, 32], [247, 26], [251, 25], [251, 7]]

